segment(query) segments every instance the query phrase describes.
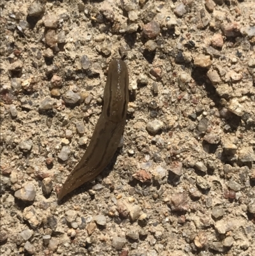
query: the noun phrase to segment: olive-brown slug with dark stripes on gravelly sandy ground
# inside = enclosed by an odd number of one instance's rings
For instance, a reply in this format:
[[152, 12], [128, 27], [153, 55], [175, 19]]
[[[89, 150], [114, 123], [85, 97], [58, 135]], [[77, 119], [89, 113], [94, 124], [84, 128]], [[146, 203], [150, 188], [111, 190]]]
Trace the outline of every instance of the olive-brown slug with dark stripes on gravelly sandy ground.
[[109, 64], [103, 94], [103, 109], [91, 141], [84, 156], [59, 191], [58, 200], [86, 181], [98, 176], [112, 160], [126, 124], [129, 101], [128, 84], [126, 64], [121, 59], [113, 59]]

